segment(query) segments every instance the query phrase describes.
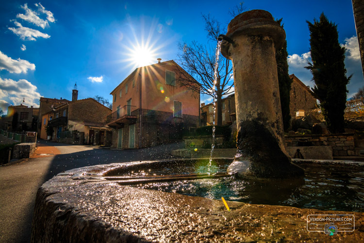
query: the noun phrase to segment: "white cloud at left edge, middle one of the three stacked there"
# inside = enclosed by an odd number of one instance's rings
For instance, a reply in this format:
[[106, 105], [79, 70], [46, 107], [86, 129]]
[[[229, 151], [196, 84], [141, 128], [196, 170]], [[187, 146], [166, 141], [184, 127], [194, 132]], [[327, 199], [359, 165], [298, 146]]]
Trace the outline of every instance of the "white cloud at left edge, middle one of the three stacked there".
[[0, 51], [0, 70], [6, 69], [12, 73], [27, 73], [28, 69], [35, 70], [35, 65], [18, 58], [17, 60], [5, 55]]

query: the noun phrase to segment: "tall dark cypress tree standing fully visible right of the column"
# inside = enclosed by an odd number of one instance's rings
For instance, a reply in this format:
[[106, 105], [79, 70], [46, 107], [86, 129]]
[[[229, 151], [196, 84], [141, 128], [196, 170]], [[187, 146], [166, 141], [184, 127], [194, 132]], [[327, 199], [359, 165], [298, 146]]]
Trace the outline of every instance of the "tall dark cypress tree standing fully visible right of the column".
[[305, 67], [313, 75], [314, 96], [332, 133], [344, 132], [344, 110], [347, 100], [345, 48], [338, 41], [337, 25], [321, 14], [319, 21], [307, 21], [310, 30], [312, 63]]

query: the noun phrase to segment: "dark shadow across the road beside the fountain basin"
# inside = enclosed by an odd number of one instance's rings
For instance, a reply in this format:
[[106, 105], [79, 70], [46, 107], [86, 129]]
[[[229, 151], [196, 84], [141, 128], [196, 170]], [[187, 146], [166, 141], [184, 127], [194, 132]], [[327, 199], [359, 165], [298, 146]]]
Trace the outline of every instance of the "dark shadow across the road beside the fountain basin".
[[[66, 146], [70, 146], [72, 149], [79, 148], [82, 151], [60, 154], [53, 157], [32, 158], [31, 161], [35, 161], [35, 163], [42, 163], [41, 166], [43, 166], [44, 170], [44, 173], [42, 173], [42, 176], [36, 187], [37, 189], [54, 175], [67, 170], [99, 164], [171, 159], [175, 158], [171, 155], [172, 150], [183, 148], [183, 142], [163, 144], [151, 148], [129, 150], [111, 150], [96, 146], [70, 145], [45, 140], [40, 141], [40, 143], [43, 146], [64, 147], [60, 148], [60, 150], [66, 149]], [[85, 148], [87, 148], [87, 150], [83, 150]], [[34, 174], [36, 173], [37, 172], [34, 172]], [[18, 229], [19, 235], [16, 237], [17, 242], [30, 241], [35, 195], [36, 190], [32, 192], [33, 201], [29, 202], [28, 206], [26, 207], [27, 209], [23, 214], [22, 226], [20, 229]]]

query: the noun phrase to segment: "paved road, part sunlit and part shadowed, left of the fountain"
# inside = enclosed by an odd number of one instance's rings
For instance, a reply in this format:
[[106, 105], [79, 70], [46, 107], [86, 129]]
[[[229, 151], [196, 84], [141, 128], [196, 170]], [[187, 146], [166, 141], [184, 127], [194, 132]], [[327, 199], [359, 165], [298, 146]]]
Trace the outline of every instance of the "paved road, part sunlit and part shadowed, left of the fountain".
[[0, 167], [0, 243], [29, 242], [37, 189], [54, 175], [84, 166], [172, 158], [183, 143], [112, 150], [40, 140], [36, 156]]

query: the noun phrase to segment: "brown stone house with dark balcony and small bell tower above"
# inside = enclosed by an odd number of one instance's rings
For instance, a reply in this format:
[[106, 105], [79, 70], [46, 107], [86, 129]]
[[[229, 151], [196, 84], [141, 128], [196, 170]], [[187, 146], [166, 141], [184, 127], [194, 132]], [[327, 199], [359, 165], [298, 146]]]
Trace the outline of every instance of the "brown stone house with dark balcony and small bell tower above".
[[[72, 90], [72, 101], [51, 106], [51, 111], [42, 115], [40, 138], [47, 139], [47, 129], [51, 129], [53, 140], [108, 145], [108, 141], [111, 142], [111, 128], [105, 126], [105, 121], [111, 109], [92, 98], [77, 98], [78, 90], [75, 86]], [[75, 141], [76, 131], [78, 141]]]

